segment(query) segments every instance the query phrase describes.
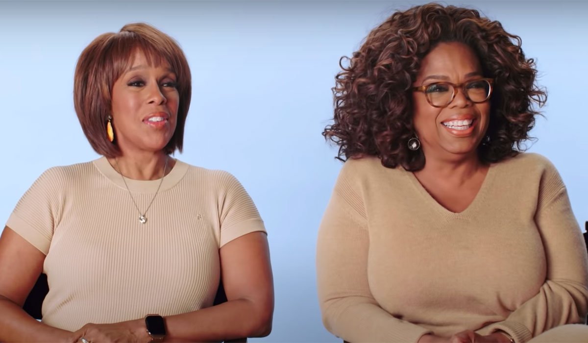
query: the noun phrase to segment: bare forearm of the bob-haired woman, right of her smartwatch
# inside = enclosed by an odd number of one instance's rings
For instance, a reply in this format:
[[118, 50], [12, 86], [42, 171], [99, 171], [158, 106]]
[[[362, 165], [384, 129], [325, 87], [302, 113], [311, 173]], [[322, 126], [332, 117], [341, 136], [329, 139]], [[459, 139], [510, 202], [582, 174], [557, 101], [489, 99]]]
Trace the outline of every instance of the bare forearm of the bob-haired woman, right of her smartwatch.
[[272, 327], [272, 311], [249, 299], [235, 299], [195, 312], [165, 317], [166, 341], [214, 342], [265, 337]]

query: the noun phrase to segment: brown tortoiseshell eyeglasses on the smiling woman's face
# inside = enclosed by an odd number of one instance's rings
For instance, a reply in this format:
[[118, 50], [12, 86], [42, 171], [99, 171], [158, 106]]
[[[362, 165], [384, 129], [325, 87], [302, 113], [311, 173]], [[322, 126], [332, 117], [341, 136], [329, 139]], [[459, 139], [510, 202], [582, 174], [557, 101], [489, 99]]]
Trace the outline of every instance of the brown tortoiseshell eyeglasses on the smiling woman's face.
[[452, 84], [451, 82], [434, 82], [420, 87], [413, 88], [413, 91], [425, 93], [429, 104], [433, 107], [443, 108], [451, 104], [457, 89], [461, 89], [466, 99], [478, 104], [485, 102], [492, 94], [493, 79], [476, 79], [466, 81], [462, 84]]

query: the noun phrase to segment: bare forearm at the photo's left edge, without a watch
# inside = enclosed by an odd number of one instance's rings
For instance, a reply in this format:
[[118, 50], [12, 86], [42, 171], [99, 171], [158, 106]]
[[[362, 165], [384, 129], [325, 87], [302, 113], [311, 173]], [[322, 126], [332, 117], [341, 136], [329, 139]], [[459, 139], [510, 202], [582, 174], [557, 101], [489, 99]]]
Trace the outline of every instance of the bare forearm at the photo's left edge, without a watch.
[[71, 334], [36, 321], [19, 305], [0, 296], [1, 342], [66, 342]]

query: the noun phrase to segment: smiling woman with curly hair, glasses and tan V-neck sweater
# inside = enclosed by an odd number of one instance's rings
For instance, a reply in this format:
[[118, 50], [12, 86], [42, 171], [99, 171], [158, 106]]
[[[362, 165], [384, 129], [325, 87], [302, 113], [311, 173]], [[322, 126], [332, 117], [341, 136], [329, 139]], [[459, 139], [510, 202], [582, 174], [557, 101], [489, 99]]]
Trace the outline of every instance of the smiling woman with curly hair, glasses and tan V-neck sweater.
[[352, 342], [586, 342], [564, 325], [588, 313], [582, 233], [557, 170], [523, 153], [546, 94], [520, 38], [473, 9], [416, 6], [342, 69], [323, 132], [346, 161], [318, 237], [325, 327]]

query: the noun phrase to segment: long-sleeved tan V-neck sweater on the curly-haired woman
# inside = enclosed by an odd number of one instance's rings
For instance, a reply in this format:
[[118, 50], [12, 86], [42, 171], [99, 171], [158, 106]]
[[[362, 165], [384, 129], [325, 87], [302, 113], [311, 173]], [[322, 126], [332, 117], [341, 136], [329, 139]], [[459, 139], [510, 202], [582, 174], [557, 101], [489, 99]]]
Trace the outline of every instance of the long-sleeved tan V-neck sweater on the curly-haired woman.
[[588, 312], [588, 261], [566, 188], [540, 155], [493, 164], [461, 213], [411, 172], [343, 165], [317, 247], [325, 327], [350, 342], [503, 329], [517, 343]]

